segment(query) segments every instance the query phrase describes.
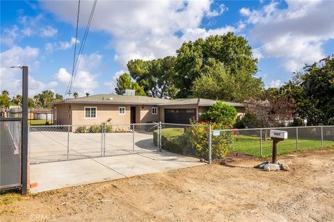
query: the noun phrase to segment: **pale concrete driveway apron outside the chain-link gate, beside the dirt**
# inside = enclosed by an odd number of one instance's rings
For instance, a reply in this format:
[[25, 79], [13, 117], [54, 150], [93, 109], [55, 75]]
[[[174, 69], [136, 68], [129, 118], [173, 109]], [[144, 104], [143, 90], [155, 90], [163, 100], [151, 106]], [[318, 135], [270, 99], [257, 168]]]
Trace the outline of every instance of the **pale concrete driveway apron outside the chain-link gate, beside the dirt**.
[[115, 180], [203, 164], [193, 157], [167, 151], [132, 153], [84, 160], [32, 164], [30, 181], [38, 182], [33, 194], [63, 187]]

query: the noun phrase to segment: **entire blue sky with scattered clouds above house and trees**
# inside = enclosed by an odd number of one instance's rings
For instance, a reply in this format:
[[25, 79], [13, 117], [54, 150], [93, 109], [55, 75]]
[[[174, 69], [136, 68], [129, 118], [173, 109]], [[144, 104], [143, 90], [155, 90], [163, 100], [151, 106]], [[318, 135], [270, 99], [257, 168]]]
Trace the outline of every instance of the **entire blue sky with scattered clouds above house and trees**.
[[[93, 1], [81, 1], [77, 51]], [[78, 1], [2, 1], [0, 90], [21, 94], [19, 69], [29, 66], [29, 95], [65, 94], [74, 57]], [[293, 72], [334, 53], [334, 1], [98, 0], [72, 92], [113, 93], [127, 61], [175, 56], [183, 42], [223, 35], [248, 40], [256, 76], [280, 87]]]

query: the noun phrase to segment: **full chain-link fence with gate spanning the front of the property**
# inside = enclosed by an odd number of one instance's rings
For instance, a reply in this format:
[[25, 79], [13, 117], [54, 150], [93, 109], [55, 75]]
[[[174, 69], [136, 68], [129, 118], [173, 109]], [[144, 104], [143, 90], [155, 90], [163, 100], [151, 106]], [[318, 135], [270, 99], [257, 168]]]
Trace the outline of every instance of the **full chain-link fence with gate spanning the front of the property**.
[[271, 129], [285, 130], [278, 154], [334, 146], [334, 126], [214, 130], [210, 125], [175, 123], [31, 126], [31, 163], [168, 151], [204, 159], [243, 160], [270, 156]]

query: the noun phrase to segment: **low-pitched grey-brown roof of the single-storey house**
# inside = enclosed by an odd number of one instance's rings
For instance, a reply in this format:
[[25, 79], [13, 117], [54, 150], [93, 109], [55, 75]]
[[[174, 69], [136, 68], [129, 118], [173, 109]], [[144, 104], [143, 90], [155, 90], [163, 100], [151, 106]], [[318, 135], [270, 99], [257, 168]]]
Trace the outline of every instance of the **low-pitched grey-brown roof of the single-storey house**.
[[[51, 103], [52, 105], [61, 103], [85, 103], [85, 104], [129, 104], [129, 105], [198, 105], [211, 106], [216, 103], [216, 100], [201, 99], [201, 98], [186, 98], [186, 99], [159, 99], [149, 96], [128, 96], [116, 94], [97, 94], [93, 96], [84, 96], [77, 99], [66, 99]], [[244, 107], [244, 103], [223, 102], [234, 107]]]

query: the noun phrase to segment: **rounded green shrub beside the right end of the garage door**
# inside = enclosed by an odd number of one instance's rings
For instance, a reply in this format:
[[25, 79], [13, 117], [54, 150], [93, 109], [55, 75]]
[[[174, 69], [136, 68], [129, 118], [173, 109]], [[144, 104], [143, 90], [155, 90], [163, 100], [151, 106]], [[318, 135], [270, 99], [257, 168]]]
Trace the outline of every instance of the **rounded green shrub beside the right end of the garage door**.
[[209, 121], [210, 123], [228, 123], [233, 125], [237, 119], [237, 110], [225, 103], [218, 101], [212, 105], [207, 112], [202, 114], [202, 121]]

